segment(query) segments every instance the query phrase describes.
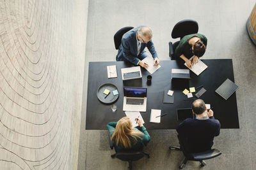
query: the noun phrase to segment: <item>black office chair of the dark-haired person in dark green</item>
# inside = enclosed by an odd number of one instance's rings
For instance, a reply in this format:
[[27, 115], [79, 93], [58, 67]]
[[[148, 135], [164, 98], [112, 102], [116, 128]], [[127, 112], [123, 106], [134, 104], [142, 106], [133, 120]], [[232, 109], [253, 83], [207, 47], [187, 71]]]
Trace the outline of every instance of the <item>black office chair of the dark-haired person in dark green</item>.
[[[174, 25], [172, 29], [172, 38], [180, 38], [182, 39], [184, 36], [189, 34], [195, 34], [198, 32], [198, 24], [195, 20], [181, 20], [177, 24]], [[169, 42], [169, 57], [172, 60], [175, 60], [175, 49], [179, 45], [180, 41], [175, 43]]]

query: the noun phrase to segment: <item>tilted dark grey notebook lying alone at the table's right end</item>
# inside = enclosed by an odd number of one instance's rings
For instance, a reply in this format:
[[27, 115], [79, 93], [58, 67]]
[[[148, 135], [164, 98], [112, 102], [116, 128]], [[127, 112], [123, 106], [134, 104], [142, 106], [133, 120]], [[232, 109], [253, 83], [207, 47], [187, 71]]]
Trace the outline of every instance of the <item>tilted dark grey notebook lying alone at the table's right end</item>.
[[231, 80], [227, 78], [227, 80], [224, 81], [218, 87], [218, 89], [215, 90], [216, 93], [220, 94], [221, 97], [223, 97], [225, 100], [228, 99], [239, 87]]

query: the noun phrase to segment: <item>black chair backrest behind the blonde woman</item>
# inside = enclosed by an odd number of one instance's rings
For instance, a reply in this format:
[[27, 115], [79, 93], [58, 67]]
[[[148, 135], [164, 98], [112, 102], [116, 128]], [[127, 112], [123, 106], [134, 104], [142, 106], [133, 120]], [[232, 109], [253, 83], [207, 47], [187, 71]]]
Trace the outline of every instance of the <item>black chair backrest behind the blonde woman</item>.
[[144, 157], [142, 152], [117, 152], [116, 157], [123, 161], [135, 161]]

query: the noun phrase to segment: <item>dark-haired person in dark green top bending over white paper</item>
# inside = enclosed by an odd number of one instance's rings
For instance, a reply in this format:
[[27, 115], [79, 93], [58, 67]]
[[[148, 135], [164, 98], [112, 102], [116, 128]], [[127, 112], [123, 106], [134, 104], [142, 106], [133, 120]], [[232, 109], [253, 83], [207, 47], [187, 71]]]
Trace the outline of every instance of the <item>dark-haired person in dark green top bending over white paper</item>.
[[[192, 67], [198, 62], [198, 57], [202, 57], [207, 46], [207, 38], [203, 34], [189, 34], [184, 36], [176, 47], [175, 54], [183, 59], [188, 67]], [[189, 60], [192, 56], [192, 62]]]

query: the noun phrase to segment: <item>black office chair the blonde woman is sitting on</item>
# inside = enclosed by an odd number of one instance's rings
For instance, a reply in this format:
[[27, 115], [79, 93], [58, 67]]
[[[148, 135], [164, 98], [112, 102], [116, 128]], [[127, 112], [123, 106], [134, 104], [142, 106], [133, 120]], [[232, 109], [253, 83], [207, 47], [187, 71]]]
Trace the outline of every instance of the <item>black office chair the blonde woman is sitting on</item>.
[[[113, 142], [112, 142], [111, 137], [109, 136], [109, 134], [108, 134], [108, 137], [109, 137], [109, 146], [110, 146], [111, 150], [113, 150], [114, 145], [113, 145]], [[144, 155], [146, 155], [148, 158], [150, 158], [150, 155], [148, 153], [143, 152], [143, 151], [116, 152], [113, 155], [111, 155], [111, 158], [116, 157], [120, 160], [129, 162], [129, 167], [128, 168], [132, 169], [132, 161], [139, 160], [139, 159], [143, 158]]]

